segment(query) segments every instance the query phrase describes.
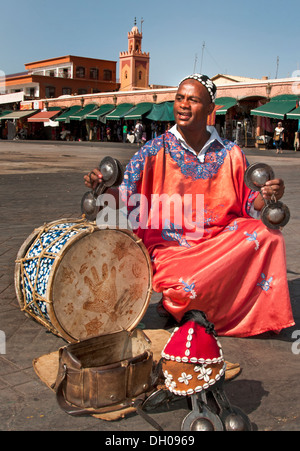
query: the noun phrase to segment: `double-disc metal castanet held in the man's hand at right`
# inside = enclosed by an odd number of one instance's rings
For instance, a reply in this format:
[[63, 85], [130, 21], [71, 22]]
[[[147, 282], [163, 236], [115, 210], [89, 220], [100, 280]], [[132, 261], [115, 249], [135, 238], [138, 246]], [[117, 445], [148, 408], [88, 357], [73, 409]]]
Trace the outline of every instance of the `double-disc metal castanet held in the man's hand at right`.
[[[265, 184], [274, 179], [273, 169], [265, 163], [254, 163], [245, 172], [244, 180], [248, 188], [259, 191]], [[270, 229], [280, 229], [290, 220], [289, 208], [282, 202], [277, 201], [273, 195], [271, 200], [264, 199], [265, 206], [261, 211], [261, 220]]]

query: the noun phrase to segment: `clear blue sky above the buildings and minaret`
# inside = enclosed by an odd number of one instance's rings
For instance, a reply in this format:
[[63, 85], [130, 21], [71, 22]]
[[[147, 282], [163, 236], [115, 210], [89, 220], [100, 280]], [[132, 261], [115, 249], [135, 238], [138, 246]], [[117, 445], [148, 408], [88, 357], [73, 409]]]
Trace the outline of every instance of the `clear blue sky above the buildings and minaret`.
[[[261, 78], [300, 70], [299, 0], [0, 0], [0, 71], [63, 55], [119, 61], [143, 18], [150, 83], [202, 69]], [[205, 43], [203, 50], [203, 43]], [[117, 66], [118, 69], [119, 65]]]

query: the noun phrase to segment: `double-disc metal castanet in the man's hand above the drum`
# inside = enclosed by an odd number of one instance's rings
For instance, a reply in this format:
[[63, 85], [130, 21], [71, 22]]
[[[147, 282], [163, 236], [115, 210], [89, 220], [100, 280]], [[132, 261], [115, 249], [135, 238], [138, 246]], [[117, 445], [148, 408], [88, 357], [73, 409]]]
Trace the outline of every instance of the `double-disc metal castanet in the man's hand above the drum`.
[[81, 200], [81, 212], [88, 221], [95, 221], [97, 217], [99, 211], [97, 198], [104, 194], [107, 188], [119, 186], [123, 181], [123, 167], [118, 160], [112, 157], [103, 158], [99, 164], [99, 170], [103, 176], [102, 182], [95, 190], [85, 193]]

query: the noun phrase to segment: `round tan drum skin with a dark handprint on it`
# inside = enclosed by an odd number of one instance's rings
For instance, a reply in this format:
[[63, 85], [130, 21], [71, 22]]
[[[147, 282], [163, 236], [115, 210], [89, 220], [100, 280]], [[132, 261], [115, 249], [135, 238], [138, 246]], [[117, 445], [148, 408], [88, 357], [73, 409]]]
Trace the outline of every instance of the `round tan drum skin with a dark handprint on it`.
[[96, 230], [63, 253], [48, 297], [53, 323], [70, 341], [134, 329], [151, 296], [151, 261], [127, 230]]

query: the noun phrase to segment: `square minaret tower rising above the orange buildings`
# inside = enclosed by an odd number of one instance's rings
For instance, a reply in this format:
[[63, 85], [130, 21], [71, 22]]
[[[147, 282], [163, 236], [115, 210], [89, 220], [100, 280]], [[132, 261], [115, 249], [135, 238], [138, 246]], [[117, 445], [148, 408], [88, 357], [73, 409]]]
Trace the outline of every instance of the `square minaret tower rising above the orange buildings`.
[[128, 33], [128, 50], [120, 52], [120, 91], [149, 88], [149, 53], [142, 52], [143, 34], [139, 32], [136, 19]]

